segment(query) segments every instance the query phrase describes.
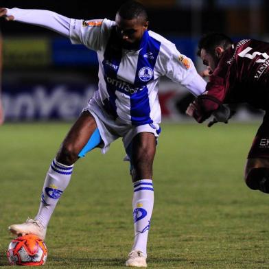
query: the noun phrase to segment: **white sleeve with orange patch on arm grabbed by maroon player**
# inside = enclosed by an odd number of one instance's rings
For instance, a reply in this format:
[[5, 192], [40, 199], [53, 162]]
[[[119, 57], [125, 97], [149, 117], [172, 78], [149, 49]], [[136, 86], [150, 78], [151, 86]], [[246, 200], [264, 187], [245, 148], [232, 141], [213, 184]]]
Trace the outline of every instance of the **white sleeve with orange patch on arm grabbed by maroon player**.
[[194, 62], [187, 56], [180, 54], [174, 44], [163, 47], [166, 55], [165, 75], [186, 86], [189, 91], [198, 96], [205, 91], [207, 82], [197, 73]]

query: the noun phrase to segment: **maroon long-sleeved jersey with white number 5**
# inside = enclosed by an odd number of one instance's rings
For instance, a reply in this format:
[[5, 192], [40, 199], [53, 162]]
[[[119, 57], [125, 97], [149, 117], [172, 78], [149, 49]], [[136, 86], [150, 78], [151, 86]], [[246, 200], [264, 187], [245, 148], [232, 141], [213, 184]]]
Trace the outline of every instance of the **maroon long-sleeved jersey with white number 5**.
[[244, 39], [226, 49], [194, 117], [202, 122], [220, 104], [244, 102], [269, 110], [269, 43]]

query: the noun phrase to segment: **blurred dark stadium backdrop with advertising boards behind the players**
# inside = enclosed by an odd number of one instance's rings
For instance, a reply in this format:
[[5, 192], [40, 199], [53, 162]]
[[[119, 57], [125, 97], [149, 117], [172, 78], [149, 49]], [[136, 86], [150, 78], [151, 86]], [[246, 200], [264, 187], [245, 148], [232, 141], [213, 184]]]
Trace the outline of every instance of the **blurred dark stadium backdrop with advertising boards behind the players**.
[[[75, 19], [115, 19], [125, 1], [1, 1], [7, 8], [44, 9]], [[141, 0], [148, 9], [150, 30], [176, 44], [194, 60], [198, 39], [218, 31], [240, 38], [268, 40], [266, 0]], [[0, 20], [3, 49], [2, 94], [5, 121], [70, 121], [97, 89], [97, 57], [68, 38], [33, 25]], [[161, 80], [163, 120], [185, 121], [193, 97], [183, 86]], [[256, 119], [260, 111], [240, 105], [235, 119]]]

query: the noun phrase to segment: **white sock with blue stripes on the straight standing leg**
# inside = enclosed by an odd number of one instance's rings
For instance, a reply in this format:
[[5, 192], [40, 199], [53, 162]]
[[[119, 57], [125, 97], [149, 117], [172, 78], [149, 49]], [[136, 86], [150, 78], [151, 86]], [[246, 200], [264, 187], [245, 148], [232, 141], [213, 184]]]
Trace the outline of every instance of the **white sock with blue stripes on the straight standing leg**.
[[132, 209], [134, 215], [134, 245], [132, 250], [141, 250], [147, 255], [148, 231], [154, 204], [154, 190], [151, 179], [134, 183]]

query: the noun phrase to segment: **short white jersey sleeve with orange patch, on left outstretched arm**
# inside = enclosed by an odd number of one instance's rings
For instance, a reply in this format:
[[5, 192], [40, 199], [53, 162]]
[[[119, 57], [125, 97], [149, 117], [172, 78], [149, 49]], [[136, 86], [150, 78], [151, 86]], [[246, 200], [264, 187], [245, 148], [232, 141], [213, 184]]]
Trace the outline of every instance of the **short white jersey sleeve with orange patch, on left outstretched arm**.
[[104, 48], [114, 21], [95, 19], [90, 21], [71, 19], [70, 38], [73, 44], [83, 44], [99, 51]]

